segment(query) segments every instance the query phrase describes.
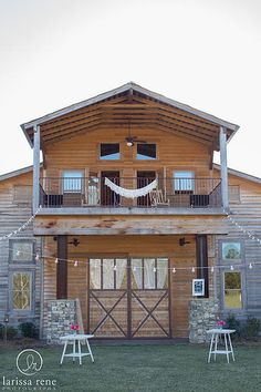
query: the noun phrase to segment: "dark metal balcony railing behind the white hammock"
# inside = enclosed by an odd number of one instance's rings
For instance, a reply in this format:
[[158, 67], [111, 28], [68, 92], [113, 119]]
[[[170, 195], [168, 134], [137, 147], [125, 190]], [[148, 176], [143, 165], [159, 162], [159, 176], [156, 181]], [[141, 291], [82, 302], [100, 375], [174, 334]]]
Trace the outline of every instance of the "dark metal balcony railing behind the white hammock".
[[[155, 178], [114, 177], [114, 184], [137, 189]], [[157, 178], [157, 188], [146, 196], [127, 198], [105, 185], [105, 178], [50, 178], [40, 180], [40, 205], [55, 207], [221, 207], [220, 178]]]

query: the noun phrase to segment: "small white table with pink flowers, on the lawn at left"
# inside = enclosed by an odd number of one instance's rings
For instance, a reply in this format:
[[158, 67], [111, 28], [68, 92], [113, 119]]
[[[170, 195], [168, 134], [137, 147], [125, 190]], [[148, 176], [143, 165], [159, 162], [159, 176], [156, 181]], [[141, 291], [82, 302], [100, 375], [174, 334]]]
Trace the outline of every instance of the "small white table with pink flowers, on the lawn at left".
[[[60, 340], [64, 343], [64, 347], [63, 347], [63, 353], [61, 357], [60, 364], [63, 363], [64, 357], [72, 357], [73, 362], [75, 362], [75, 358], [79, 358], [79, 363], [82, 364], [82, 357], [90, 355], [92, 362], [94, 362], [93, 353], [88, 343], [88, 339], [93, 337], [94, 337], [93, 334], [84, 334], [84, 333], [72, 333], [72, 334], [66, 334], [64, 337], [61, 337]], [[69, 343], [73, 344], [73, 351], [66, 354], [66, 348]], [[81, 350], [82, 343], [86, 343], [88, 350], [87, 352], [82, 352]]]

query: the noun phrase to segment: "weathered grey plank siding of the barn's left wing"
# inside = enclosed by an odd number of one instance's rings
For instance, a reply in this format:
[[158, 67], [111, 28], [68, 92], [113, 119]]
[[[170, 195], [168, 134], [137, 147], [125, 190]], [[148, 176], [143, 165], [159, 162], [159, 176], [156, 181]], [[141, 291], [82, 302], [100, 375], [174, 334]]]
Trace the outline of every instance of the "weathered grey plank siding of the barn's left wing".
[[[27, 173], [0, 182], [0, 237], [18, 229], [32, 215], [32, 173]], [[35, 243], [35, 249], [41, 254], [41, 238], [33, 237], [32, 224], [10, 239], [0, 241], [0, 320], [9, 312], [10, 323], [28, 319], [39, 324], [41, 312], [41, 260], [34, 262], [13, 264], [9, 260], [9, 248], [12, 239], [30, 239]], [[10, 310], [11, 301], [11, 272], [15, 270], [30, 270], [34, 272], [33, 310], [24, 316], [18, 316]]]

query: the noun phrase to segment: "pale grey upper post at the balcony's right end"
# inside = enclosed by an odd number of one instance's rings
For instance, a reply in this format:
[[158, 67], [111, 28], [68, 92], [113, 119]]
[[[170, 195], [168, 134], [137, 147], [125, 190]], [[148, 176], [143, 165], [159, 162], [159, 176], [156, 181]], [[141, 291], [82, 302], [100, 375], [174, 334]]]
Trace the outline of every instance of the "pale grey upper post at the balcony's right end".
[[227, 130], [220, 126], [219, 132], [220, 144], [220, 165], [221, 165], [221, 196], [223, 208], [229, 207], [228, 198], [228, 161], [227, 161]]

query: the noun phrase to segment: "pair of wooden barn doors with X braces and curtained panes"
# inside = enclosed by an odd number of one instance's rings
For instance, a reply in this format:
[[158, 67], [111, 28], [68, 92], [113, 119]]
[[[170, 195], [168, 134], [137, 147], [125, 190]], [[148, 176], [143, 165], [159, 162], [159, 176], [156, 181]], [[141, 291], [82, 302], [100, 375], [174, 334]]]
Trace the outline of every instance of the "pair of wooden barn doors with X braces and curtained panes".
[[169, 338], [167, 258], [90, 259], [88, 331], [103, 338]]

